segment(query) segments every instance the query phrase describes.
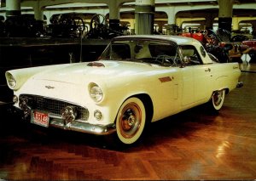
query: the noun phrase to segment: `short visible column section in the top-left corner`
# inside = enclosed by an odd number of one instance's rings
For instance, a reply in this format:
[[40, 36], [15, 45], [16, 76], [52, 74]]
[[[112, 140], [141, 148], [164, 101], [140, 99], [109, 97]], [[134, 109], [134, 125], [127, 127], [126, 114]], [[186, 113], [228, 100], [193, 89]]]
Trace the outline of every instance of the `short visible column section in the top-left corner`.
[[20, 16], [20, 0], [7, 0], [6, 1], [6, 18]]

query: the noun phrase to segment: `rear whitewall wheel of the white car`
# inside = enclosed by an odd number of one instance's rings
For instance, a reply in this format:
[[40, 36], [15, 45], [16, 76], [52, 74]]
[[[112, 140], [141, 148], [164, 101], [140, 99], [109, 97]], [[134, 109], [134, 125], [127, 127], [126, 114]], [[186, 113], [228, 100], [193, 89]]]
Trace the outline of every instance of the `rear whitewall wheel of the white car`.
[[212, 99], [209, 104], [212, 107], [212, 110], [220, 110], [224, 104], [225, 90], [218, 90], [212, 93]]

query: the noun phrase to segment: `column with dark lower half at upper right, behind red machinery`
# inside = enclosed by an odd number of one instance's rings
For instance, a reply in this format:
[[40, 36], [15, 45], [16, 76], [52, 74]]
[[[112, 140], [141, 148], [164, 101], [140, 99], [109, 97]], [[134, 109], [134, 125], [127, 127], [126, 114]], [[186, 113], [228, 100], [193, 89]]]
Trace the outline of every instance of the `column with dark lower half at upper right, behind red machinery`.
[[231, 31], [234, 0], [218, 0], [218, 28]]

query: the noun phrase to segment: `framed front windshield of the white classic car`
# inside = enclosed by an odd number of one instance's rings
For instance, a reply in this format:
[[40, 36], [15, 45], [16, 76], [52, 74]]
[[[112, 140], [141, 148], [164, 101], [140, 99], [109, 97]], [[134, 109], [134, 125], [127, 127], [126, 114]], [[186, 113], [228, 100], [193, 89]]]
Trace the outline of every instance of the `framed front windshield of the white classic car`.
[[174, 65], [177, 64], [177, 44], [142, 39], [114, 41], [102, 53], [101, 59]]

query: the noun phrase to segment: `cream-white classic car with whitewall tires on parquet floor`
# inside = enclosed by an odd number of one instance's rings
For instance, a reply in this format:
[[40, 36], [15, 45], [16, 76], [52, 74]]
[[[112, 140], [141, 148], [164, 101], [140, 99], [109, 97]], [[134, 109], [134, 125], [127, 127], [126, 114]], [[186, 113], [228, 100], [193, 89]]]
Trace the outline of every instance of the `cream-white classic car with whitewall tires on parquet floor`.
[[237, 63], [220, 64], [195, 39], [115, 37], [93, 62], [6, 72], [15, 110], [44, 127], [139, 139], [148, 122], [208, 103], [241, 86]]

